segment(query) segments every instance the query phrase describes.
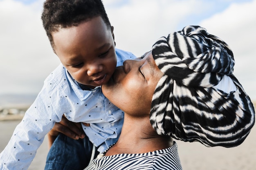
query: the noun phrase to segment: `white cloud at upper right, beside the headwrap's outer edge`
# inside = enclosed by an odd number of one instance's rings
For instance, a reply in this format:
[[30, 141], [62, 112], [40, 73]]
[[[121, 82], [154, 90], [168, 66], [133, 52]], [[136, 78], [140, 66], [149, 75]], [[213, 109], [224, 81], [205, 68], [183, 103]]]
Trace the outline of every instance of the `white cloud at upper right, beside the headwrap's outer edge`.
[[222, 38], [233, 50], [236, 61], [234, 75], [245, 91], [256, 100], [256, 0], [244, 4], [232, 4], [200, 23], [209, 33]]

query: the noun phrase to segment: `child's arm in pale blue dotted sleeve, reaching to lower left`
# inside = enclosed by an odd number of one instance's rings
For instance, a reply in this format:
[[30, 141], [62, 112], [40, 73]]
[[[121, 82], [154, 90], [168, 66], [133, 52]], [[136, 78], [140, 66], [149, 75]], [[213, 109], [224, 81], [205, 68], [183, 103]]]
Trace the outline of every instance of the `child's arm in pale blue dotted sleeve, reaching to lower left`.
[[1, 170], [27, 169], [45, 135], [55, 122], [61, 120], [62, 115], [56, 114], [49, 98], [45, 96], [47, 91], [43, 87], [14, 130], [7, 146], [0, 153]]

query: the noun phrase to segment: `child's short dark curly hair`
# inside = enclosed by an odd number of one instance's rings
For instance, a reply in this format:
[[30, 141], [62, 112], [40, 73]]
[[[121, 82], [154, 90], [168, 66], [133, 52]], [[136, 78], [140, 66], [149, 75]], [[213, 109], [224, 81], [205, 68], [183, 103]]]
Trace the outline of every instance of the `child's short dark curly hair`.
[[59, 28], [77, 26], [81, 22], [101, 16], [108, 28], [111, 28], [108, 15], [101, 0], [46, 0], [43, 6], [42, 21], [52, 48], [52, 33]]

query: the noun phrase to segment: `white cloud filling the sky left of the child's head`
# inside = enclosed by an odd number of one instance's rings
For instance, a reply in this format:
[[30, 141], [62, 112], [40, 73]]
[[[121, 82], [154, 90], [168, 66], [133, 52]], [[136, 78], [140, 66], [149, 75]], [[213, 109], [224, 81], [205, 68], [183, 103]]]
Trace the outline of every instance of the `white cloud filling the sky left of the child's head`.
[[38, 93], [59, 63], [40, 20], [42, 4], [0, 1], [0, 93]]

